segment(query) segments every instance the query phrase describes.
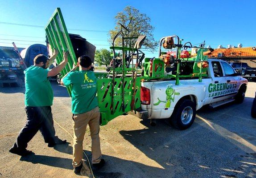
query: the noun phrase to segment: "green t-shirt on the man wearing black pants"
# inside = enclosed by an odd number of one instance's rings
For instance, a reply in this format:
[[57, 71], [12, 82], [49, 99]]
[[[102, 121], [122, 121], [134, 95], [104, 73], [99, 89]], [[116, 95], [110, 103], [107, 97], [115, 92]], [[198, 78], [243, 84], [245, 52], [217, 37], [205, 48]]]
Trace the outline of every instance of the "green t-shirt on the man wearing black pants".
[[25, 73], [25, 105], [26, 106], [51, 106], [54, 93], [47, 74], [49, 69], [30, 66]]

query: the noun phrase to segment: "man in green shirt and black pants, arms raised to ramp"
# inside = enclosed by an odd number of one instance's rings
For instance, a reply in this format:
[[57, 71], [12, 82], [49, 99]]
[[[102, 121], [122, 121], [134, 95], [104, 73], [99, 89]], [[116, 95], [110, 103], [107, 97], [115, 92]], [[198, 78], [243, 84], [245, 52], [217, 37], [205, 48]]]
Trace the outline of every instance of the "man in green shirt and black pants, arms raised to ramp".
[[[53, 104], [53, 90], [47, 77], [56, 76], [68, 62], [67, 52], [63, 52], [64, 61], [53, 69], [48, 69], [50, 60], [58, 55], [58, 51], [50, 59], [39, 54], [34, 58], [34, 65], [27, 68], [25, 73], [25, 111], [27, 121], [21, 129], [17, 141], [9, 150], [13, 154], [25, 156], [32, 151], [26, 150], [28, 142], [40, 129], [45, 142], [53, 145], [55, 143], [55, 130], [51, 113]], [[63, 143], [66, 141], [63, 141]]]

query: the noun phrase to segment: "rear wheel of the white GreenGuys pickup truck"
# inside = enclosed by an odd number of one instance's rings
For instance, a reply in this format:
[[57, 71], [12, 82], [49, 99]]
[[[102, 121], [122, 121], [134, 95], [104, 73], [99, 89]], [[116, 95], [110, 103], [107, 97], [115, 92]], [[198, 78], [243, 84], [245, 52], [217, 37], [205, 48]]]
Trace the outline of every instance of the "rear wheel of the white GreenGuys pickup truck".
[[170, 117], [170, 123], [177, 129], [185, 130], [193, 124], [195, 113], [195, 103], [191, 100], [184, 99], [176, 104], [173, 114]]

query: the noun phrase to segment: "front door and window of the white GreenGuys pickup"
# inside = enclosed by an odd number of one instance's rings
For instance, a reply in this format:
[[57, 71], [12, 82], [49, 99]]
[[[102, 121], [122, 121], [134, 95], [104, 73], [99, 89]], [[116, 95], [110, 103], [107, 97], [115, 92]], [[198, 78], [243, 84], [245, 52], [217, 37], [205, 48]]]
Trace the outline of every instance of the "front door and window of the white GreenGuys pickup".
[[227, 64], [225, 61], [221, 61], [221, 64], [223, 66], [224, 75], [227, 82], [227, 98], [235, 96], [235, 94], [238, 92], [240, 80], [238, 76], [234, 76], [235, 70]]

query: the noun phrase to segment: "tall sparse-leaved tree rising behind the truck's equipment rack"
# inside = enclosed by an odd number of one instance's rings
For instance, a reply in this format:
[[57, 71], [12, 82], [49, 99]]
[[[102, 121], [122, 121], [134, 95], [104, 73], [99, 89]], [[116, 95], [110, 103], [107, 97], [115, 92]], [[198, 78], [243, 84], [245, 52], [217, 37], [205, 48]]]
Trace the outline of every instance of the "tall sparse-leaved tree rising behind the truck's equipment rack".
[[[154, 27], [150, 24], [150, 18], [146, 14], [142, 14], [138, 9], [133, 8], [131, 6], [127, 6], [124, 8], [122, 12], [118, 12], [115, 16], [116, 26], [115, 29], [109, 31], [110, 39], [109, 41], [112, 43], [114, 36], [120, 31], [120, 24], [124, 25], [128, 29], [125, 30], [122, 28], [122, 32], [124, 37], [132, 37], [132, 36], [141, 36], [146, 35], [146, 39], [144, 41], [145, 48], [148, 48], [150, 51], [154, 51], [157, 47], [157, 41], [153, 37]], [[118, 24], [120, 23], [120, 24]], [[124, 46], [132, 47], [136, 42], [135, 40], [124, 40]], [[121, 36], [116, 39], [115, 46], [121, 46], [122, 39]]]

